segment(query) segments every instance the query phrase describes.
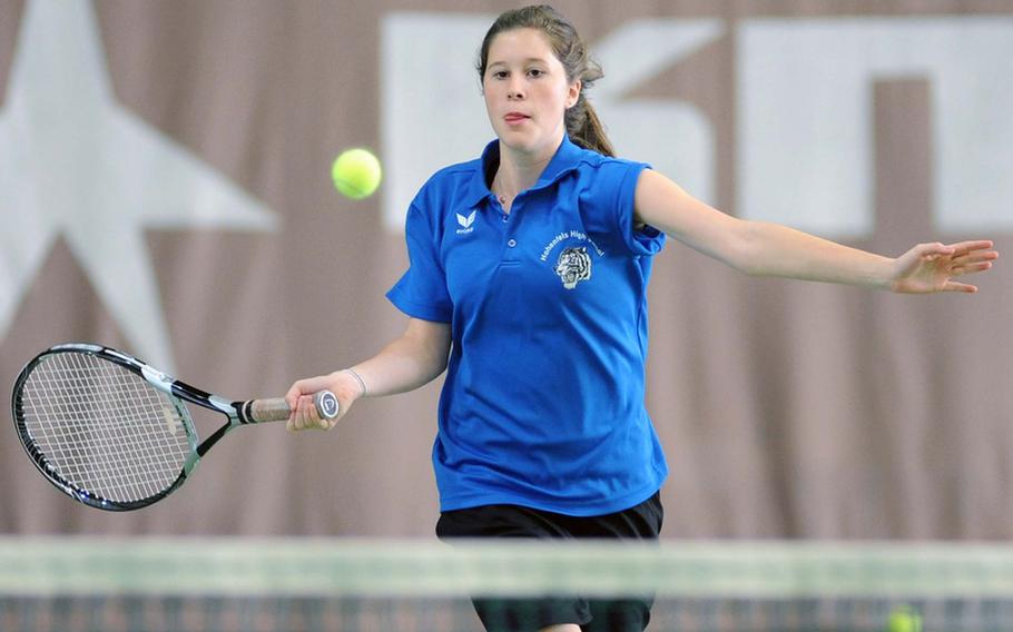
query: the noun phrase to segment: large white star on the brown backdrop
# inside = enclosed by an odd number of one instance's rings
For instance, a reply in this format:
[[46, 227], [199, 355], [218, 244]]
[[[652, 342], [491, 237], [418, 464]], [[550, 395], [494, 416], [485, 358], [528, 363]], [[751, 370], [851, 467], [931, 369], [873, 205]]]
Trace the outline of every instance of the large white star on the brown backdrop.
[[0, 338], [62, 236], [131, 350], [170, 369], [145, 228], [273, 230], [277, 217], [116, 102], [91, 2], [32, 0], [10, 77], [0, 110]]

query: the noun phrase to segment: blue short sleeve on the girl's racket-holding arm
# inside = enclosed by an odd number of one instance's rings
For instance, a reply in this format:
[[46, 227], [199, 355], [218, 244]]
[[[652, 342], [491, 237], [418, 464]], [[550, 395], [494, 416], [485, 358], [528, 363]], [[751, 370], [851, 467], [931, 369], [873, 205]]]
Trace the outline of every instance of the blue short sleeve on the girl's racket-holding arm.
[[453, 304], [446, 289], [446, 274], [440, 260], [440, 245], [433, 220], [412, 205], [404, 233], [409, 269], [387, 292], [387, 299], [413, 318], [450, 323]]

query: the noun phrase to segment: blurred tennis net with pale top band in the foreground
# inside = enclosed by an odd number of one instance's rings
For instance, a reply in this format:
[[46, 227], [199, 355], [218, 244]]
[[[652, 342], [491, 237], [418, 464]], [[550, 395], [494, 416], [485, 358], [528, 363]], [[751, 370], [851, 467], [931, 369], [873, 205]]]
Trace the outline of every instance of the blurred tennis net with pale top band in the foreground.
[[481, 630], [470, 596], [655, 595], [650, 631], [1013, 630], [1013, 546], [0, 537], [3, 632]]

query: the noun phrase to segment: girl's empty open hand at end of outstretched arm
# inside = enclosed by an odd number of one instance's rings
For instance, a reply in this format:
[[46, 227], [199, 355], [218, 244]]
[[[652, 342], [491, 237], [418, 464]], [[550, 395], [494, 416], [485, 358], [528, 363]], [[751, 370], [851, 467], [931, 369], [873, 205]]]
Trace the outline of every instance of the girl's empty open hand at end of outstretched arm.
[[996, 258], [999, 253], [989, 240], [918, 244], [896, 259], [889, 288], [903, 294], [977, 292], [977, 287], [953, 279], [985, 271]]

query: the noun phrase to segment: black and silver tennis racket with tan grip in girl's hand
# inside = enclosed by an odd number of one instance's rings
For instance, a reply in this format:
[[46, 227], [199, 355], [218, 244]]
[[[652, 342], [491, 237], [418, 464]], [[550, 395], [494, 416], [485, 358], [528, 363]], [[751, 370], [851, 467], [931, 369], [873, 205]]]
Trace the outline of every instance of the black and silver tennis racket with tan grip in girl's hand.
[[[228, 422], [198, 444], [187, 403]], [[333, 393], [317, 393], [314, 403], [322, 417], [337, 416]], [[289, 416], [283, 398], [229, 402], [122, 352], [83, 343], [57, 345], [28, 363], [11, 407], [39, 472], [70, 497], [108, 511], [165, 498], [230, 431]]]

